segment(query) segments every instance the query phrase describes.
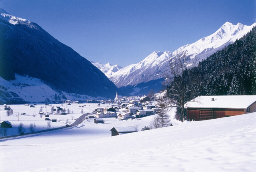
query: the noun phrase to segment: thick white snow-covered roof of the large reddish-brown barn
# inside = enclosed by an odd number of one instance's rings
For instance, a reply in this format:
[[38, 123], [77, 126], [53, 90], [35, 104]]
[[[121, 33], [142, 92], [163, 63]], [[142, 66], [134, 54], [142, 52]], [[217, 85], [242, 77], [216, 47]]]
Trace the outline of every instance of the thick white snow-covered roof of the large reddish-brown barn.
[[[211, 99], [214, 99], [212, 101]], [[198, 96], [185, 107], [246, 109], [256, 101], [256, 95], [210, 95]]]

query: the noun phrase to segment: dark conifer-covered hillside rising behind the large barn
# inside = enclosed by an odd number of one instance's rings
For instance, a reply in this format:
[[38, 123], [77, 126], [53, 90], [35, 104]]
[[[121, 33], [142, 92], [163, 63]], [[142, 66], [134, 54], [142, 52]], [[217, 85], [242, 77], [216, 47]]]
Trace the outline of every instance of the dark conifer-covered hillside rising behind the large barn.
[[255, 95], [256, 27], [189, 70], [189, 83], [198, 95]]

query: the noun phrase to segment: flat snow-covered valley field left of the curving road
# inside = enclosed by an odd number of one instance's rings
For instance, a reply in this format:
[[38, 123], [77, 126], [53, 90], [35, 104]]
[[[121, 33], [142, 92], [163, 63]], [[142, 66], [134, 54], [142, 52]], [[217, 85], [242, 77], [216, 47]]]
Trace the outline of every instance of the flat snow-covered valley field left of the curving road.
[[[33, 105], [33, 104], [32, 104]], [[61, 108], [65, 108], [66, 110], [69, 109], [71, 111], [70, 114], [67, 115], [57, 115], [57, 114], [50, 114], [50, 119], [57, 119], [57, 122], [51, 123], [51, 128], [61, 127], [66, 125], [66, 119], [68, 119], [68, 123], [73, 123], [79, 116], [82, 115], [81, 110], [83, 109], [83, 113], [91, 113], [94, 109], [96, 109], [98, 104], [95, 103], [83, 103], [83, 104], [51, 104], [51, 106], [54, 106], [56, 108], [57, 106], [60, 106]], [[10, 106], [13, 109], [13, 115], [6, 116], [6, 110], [4, 110], [4, 105], [0, 105], [0, 116], [1, 116], [1, 122], [2, 121], [9, 121], [12, 124], [12, 128], [8, 128], [8, 136], [18, 134], [18, 125], [20, 122], [24, 124], [25, 127], [25, 133], [30, 132], [29, 131], [29, 125], [30, 123], [35, 123], [36, 125], [36, 131], [46, 130], [47, 129], [47, 122], [45, 121], [45, 115], [40, 117], [39, 110], [42, 107], [43, 112], [50, 113], [51, 112], [51, 106], [45, 105], [45, 104], [37, 104], [35, 107], [29, 107], [25, 105], [7, 105]], [[80, 107], [79, 107], [80, 106]], [[84, 106], [84, 107], [81, 107]], [[105, 105], [102, 105], [105, 107]], [[110, 107], [109, 104], [106, 104], [106, 107]], [[73, 111], [73, 113], [72, 113]], [[26, 115], [21, 115], [22, 113], [26, 113]], [[73, 118], [72, 118], [73, 117]], [[72, 120], [73, 119], [73, 120]], [[91, 123], [93, 119], [89, 120]]]

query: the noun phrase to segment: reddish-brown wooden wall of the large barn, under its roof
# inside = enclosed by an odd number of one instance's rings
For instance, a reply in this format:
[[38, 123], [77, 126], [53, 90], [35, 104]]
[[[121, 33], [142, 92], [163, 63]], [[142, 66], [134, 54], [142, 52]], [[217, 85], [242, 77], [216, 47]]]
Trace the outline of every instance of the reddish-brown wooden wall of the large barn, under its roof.
[[187, 115], [189, 121], [199, 121], [199, 111], [202, 110], [213, 110], [213, 119], [221, 118], [226, 116], [242, 115], [245, 113], [245, 109], [225, 109], [225, 108], [187, 108]]

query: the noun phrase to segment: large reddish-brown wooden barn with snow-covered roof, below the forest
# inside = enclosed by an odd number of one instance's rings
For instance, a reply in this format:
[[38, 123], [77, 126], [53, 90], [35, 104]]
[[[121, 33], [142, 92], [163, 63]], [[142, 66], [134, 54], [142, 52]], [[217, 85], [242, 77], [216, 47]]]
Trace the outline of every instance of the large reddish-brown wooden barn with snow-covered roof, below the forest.
[[186, 103], [187, 119], [202, 121], [256, 112], [255, 95], [199, 96]]

